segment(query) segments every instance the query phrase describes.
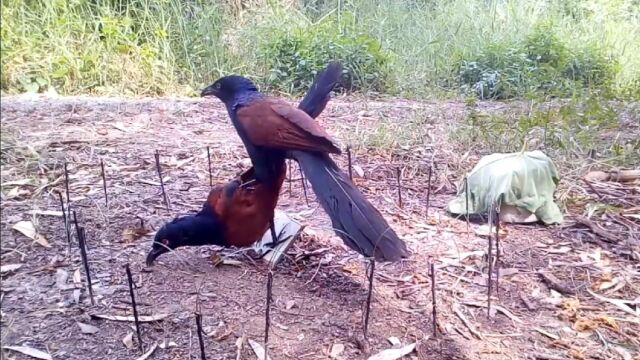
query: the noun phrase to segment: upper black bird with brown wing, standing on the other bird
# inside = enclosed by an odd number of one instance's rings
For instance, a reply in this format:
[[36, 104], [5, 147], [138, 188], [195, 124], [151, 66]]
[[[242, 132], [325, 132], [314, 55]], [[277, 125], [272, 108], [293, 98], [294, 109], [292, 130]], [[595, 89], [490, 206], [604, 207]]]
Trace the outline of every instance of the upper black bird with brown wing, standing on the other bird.
[[[342, 66], [332, 62], [327, 71], [342, 72]], [[223, 76], [200, 95], [225, 105], [255, 169], [252, 182], [273, 184], [281, 164], [293, 159], [349, 248], [383, 262], [409, 256], [404, 241], [330, 157], [341, 150], [308, 113], [260, 92], [240, 75]]]

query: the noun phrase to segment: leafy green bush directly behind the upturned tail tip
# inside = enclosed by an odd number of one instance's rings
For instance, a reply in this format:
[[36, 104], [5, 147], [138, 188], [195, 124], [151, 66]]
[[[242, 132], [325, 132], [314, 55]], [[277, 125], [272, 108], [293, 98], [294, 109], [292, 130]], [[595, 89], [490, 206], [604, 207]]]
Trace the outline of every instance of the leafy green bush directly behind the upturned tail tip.
[[342, 63], [342, 86], [348, 91], [384, 91], [391, 53], [384, 51], [375, 38], [358, 29], [354, 21], [345, 21], [342, 14], [316, 24], [298, 25], [287, 29], [271, 29], [271, 35], [259, 47], [258, 58], [268, 74], [267, 87], [289, 93], [308, 88], [314, 75], [327, 63]]

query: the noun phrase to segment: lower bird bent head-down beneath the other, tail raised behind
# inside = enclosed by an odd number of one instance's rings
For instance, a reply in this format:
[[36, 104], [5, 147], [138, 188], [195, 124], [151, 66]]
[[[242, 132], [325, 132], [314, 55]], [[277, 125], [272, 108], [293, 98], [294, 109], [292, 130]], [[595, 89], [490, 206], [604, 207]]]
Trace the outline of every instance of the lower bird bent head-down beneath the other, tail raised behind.
[[[338, 83], [340, 73], [336, 70], [327, 67], [320, 72], [298, 108], [312, 118], [317, 117]], [[269, 183], [255, 181], [256, 171], [251, 167], [232, 181], [211, 189], [198, 213], [175, 218], [158, 230], [147, 254], [147, 266], [178, 247], [245, 247], [258, 241], [269, 228], [275, 235], [273, 215], [286, 175], [284, 159], [274, 171], [275, 181]]]

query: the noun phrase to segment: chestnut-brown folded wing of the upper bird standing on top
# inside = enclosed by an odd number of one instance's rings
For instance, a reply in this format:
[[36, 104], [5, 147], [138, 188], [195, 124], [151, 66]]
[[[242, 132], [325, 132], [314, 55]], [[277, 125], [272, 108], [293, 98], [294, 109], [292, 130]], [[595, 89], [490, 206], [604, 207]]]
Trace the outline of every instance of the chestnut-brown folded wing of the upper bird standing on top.
[[315, 120], [285, 102], [265, 100], [240, 108], [238, 121], [249, 140], [258, 146], [341, 153]]

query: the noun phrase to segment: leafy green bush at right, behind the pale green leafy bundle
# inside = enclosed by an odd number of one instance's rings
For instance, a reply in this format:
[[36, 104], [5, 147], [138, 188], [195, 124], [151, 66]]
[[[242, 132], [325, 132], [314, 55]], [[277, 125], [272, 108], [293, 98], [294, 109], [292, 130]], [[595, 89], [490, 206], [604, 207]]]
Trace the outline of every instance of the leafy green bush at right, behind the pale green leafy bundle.
[[460, 62], [458, 81], [464, 93], [481, 99], [509, 99], [530, 93], [570, 96], [591, 86], [609, 86], [615, 61], [597, 46], [570, 49], [549, 25], [540, 25], [524, 41], [490, 44], [471, 60]]

